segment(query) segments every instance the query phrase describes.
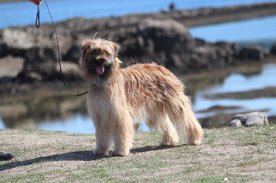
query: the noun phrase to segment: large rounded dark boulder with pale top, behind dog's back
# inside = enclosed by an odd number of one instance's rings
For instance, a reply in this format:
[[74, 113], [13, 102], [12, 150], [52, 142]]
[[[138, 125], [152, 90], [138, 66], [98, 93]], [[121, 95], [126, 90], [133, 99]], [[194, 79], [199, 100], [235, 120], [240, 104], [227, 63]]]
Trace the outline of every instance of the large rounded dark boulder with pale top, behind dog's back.
[[138, 34], [151, 44], [154, 53], [164, 55], [166, 67], [185, 67], [181, 54], [195, 47], [188, 28], [171, 19], [145, 19], [138, 25]]

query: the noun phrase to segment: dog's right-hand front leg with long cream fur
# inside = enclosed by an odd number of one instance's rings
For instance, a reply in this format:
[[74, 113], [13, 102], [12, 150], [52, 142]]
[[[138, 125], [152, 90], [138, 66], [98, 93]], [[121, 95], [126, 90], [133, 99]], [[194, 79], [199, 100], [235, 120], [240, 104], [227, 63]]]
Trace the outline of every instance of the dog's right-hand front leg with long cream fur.
[[132, 138], [134, 136], [133, 122], [130, 114], [126, 110], [119, 114], [115, 121], [114, 142], [115, 149], [112, 155], [128, 155], [132, 147]]

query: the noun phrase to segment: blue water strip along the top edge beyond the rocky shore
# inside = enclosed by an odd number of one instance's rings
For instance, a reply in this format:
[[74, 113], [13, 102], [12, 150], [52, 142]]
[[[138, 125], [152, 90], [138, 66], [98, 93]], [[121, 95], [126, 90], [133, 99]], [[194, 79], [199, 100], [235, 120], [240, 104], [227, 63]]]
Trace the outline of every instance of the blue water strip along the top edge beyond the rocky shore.
[[[49, 0], [47, 2], [54, 21], [63, 21], [73, 17], [95, 18], [141, 12], [158, 12], [159, 10], [168, 10], [168, 6], [172, 0]], [[179, 9], [193, 9], [275, 2], [275, 0], [174, 0], [173, 2]], [[41, 23], [50, 22], [50, 17], [44, 1], [39, 8]], [[29, 1], [0, 3], [0, 28], [34, 24], [36, 14], [37, 6]]]

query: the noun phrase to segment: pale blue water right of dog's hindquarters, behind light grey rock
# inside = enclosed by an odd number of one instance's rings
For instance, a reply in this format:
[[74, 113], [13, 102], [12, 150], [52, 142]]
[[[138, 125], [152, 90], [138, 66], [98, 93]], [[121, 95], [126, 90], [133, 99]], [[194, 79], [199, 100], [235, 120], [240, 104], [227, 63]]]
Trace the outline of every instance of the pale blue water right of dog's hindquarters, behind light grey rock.
[[[225, 92], [246, 92], [253, 89], [264, 89], [266, 87], [276, 86], [276, 65], [266, 64], [263, 66], [261, 74], [253, 76], [244, 76], [242, 74], [231, 74], [224, 79], [224, 83], [213, 85], [211, 88], [198, 91], [195, 94], [194, 110], [201, 111], [213, 107], [220, 106], [239, 106], [241, 109], [232, 109], [224, 111], [224, 114], [242, 113], [245, 111], [261, 111], [266, 110], [267, 116], [276, 116], [276, 98], [255, 98], [248, 100], [235, 99], [207, 99], [206, 94], [221, 94]], [[267, 110], [268, 109], [268, 110]], [[209, 113], [197, 113], [197, 118], [213, 116], [220, 114], [221, 111]]]

